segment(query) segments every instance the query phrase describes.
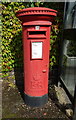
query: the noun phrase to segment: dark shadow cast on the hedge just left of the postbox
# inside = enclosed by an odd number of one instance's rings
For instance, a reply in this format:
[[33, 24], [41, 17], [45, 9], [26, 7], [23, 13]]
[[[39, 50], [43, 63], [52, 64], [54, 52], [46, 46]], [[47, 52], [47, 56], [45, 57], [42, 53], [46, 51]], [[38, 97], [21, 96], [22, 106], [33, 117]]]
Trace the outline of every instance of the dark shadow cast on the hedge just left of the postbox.
[[[23, 98], [23, 45], [22, 45], [22, 31], [18, 32], [12, 39], [10, 43], [11, 54], [14, 58], [14, 74], [15, 83], [18, 90]], [[24, 98], [23, 98], [24, 99]]]

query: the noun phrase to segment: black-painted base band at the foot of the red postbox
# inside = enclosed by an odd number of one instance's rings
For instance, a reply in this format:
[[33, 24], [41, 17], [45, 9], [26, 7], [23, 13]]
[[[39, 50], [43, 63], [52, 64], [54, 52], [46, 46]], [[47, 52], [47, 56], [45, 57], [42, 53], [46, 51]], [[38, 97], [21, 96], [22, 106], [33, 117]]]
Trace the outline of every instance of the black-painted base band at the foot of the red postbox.
[[48, 94], [45, 94], [44, 96], [40, 97], [32, 97], [24, 93], [24, 100], [25, 103], [31, 107], [39, 107], [43, 106], [48, 102]]

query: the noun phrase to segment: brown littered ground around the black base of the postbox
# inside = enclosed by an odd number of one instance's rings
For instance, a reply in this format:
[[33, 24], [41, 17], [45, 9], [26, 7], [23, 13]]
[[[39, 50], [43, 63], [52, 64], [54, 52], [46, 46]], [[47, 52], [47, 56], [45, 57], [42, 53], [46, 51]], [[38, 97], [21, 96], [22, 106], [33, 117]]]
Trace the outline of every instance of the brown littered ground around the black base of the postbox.
[[[10, 79], [11, 80], [11, 79]], [[12, 78], [13, 80], [13, 78]], [[14, 81], [14, 80], [13, 80]], [[22, 85], [19, 86], [22, 89]], [[70, 120], [65, 114], [63, 107], [57, 106], [58, 99], [55, 95], [55, 89], [53, 85], [49, 86], [49, 98], [48, 103], [43, 107], [29, 107], [24, 103], [19, 88], [15, 85], [15, 82], [4, 80], [2, 85], [2, 118], [11, 120], [11, 118], [60, 118], [60, 120]], [[59, 104], [59, 103], [58, 103]]]

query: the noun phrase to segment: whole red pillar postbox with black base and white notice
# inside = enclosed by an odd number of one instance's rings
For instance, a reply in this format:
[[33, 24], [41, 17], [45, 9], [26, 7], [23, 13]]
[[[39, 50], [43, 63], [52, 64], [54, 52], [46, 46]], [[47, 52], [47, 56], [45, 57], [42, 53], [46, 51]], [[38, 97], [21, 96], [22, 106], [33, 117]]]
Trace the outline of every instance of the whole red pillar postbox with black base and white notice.
[[48, 100], [50, 28], [57, 11], [43, 7], [19, 10], [24, 51], [24, 98], [30, 106]]

